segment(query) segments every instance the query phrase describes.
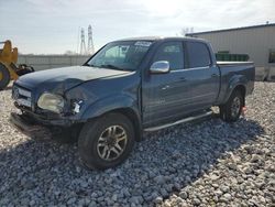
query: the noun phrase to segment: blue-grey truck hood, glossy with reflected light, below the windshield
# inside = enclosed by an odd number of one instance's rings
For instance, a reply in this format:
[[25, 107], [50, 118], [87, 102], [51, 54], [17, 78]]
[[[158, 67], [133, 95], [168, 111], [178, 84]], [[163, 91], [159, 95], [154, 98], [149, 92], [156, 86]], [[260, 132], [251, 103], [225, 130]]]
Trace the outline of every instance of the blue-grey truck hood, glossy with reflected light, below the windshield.
[[88, 67], [70, 66], [55, 69], [46, 69], [21, 76], [15, 84], [30, 89], [59, 90], [73, 88], [84, 81], [98, 78], [112, 77], [131, 72]]

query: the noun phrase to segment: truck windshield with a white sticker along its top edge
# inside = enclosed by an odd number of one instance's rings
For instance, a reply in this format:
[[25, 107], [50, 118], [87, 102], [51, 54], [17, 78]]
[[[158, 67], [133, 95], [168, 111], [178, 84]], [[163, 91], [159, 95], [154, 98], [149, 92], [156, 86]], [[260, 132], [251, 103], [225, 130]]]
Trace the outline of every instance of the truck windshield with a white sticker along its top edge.
[[111, 69], [135, 70], [148, 51], [150, 41], [123, 41], [107, 44], [86, 65]]

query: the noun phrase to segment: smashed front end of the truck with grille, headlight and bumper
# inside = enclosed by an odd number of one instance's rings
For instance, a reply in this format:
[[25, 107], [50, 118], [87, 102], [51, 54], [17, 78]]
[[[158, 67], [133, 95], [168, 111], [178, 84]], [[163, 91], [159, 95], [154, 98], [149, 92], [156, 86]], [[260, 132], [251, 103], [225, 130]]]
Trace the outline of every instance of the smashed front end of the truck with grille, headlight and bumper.
[[38, 88], [29, 89], [15, 83], [12, 88], [12, 98], [20, 112], [11, 113], [11, 123], [34, 139], [61, 137], [65, 131], [67, 137], [72, 137], [75, 130], [79, 131], [78, 128], [81, 126], [78, 113], [85, 100], [79, 98], [79, 92], [75, 97], [68, 92], [68, 98], [64, 90], [61, 92], [61, 88], [64, 87], [58, 85], [53, 90], [55, 92], [41, 92]]

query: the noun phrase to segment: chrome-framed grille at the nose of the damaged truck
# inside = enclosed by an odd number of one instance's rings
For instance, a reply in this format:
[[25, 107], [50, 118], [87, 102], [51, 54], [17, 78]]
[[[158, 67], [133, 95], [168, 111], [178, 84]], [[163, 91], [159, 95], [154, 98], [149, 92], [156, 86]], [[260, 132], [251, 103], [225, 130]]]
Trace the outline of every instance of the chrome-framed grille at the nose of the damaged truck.
[[19, 107], [32, 107], [32, 92], [18, 85], [12, 87], [12, 98]]

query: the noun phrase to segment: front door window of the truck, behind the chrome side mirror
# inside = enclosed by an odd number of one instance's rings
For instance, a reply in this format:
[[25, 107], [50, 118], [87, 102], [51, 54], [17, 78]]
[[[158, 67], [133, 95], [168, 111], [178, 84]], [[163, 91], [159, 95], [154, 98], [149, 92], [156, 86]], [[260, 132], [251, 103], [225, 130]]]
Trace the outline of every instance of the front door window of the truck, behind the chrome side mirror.
[[169, 62], [170, 69], [183, 69], [184, 68], [184, 52], [182, 42], [167, 42], [163, 43], [155, 56], [153, 62], [167, 61]]

